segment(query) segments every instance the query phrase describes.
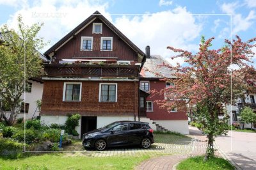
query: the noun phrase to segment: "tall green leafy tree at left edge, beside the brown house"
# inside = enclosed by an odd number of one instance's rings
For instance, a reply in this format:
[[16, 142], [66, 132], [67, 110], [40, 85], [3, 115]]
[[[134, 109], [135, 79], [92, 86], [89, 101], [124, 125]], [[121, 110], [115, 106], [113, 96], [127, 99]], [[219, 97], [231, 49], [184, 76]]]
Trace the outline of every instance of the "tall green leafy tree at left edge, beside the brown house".
[[[22, 17], [18, 17], [18, 31], [9, 29], [7, 25], [1, 27], [2, 40], [0, 43], [0, 110], [8, 125], [12, 125], [20, 112], [20, 98], [24, 93], [24, 86], [30, 77], [40, 75], [42, 60], [40, 50], [45, 43], [36, 35], [42, 24], [25, 26]], [[36, 49], [36, 50], [35, 50]], [[6, 116], [3, 104], [10, 107], [10, 116]]]

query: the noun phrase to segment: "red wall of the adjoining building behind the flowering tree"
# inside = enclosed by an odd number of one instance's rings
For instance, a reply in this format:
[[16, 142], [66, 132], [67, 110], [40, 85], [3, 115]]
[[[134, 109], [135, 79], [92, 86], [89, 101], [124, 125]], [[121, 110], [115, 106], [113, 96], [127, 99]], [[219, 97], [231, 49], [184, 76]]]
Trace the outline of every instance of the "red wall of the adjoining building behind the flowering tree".
[[[160, 91], [161, 89], [166, 87], [166, 83], [164, 81], [150, 81], [150, 90], [156, 89]], [[147, 101], [153, 102], [153, 112], [147, 112], [147, 118], [150, 120], [188, 120], [188, 116], [186, 115], [186, 110], [177, 110], [177, 112], [168, 112], [167, 109], [160, 108], [156, 100], [163, 100], [164, 95], [150, 94], [147, 97]]]

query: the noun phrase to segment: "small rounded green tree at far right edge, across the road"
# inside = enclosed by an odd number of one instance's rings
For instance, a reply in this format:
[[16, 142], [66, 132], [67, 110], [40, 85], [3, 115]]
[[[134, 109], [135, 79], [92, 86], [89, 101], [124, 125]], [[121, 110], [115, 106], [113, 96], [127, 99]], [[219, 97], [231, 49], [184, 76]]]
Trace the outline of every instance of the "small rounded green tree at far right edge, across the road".
[[244, 109], [241, 111], [241, 121], [243, 122], [243, 128], [244, 123], [251, 123], [251, 130], [253, 123], [256, 123], [256, 113], [253, 112], [253, 109], [250, 107], [244, 107]]

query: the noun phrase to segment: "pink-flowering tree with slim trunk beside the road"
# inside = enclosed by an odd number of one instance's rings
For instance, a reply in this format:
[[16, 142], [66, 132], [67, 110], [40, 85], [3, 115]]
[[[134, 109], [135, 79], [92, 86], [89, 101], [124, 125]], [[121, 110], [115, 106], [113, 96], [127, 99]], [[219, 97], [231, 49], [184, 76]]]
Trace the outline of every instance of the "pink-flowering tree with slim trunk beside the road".
[[[251, 45], [256, 38], [242, 42], [239, 36], [230, 42], [225, 40], [225, 47], [214, 50], [210, 49], [214, 38], [205, 40], [202, 37], [199, 52], [192, 54], [186, 50], [167, 47], [173, 52], [179, 53], [174, 58], [184, 58], [186, 66], [165, 65], [175, 70], [177, 79], [164, 79], [172, 81], [175, 86], [170, 86], [159, 91], [164, 94], [165, 100], [157, 101], [161, 107], [178, 109], [189, 105], [197, 105], [200, 115], [198, 121], [202, 124], [202, 130], [207, 134], [207, 150], [205, 160], [214, 155], [214, 137], [225, 134], [224, 120], [218, 115], [225, 112], [225, 104], [234, 104], [246, 89], [247, 81], [252, 81], [252, 66], [248, 65], [254, 55]], [[231, 65], [232, 63], [232, 65]], [[236, 71], [232, 72], [232, 66], [236, 65]], [[246, 79], [244, 79], [246, 77]]]

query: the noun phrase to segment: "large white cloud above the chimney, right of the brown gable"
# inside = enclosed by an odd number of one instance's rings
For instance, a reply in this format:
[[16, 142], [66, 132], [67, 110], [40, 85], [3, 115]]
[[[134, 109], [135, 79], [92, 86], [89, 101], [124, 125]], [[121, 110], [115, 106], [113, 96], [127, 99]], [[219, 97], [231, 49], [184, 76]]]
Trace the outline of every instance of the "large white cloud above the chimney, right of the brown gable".
[[[167, 46], [197, 51], [198, 44], [192, 41], [200, 36], [202, 30], [202, 26], [195, 23], [195, 16], [186, 8], [180, 7], [172, 11], [140, 15], [130, 19], [124, 15], [115, 20], [115, 26], [140, 49], [144, 50], [150, 45], [151, 54], [159, 54], [164, 58], [173, 55], [166, 49]], [[180, 64], [184, 62], [177, 61]]]

